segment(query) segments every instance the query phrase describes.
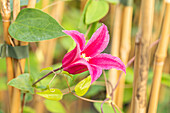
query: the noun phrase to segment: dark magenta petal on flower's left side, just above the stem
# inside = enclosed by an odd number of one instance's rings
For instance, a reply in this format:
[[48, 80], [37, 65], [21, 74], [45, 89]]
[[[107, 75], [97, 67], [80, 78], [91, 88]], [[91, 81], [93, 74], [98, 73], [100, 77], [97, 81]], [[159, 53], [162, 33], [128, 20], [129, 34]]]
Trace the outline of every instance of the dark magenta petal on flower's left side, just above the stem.
[[76, 59], [80, 58], [80, 48], [79, 45], [77, 45], [73, 50], [68, 52], [63, 60], [62, 60], [62, 67], [66, 67], [70, 65], [72, 62], [74, 62]]

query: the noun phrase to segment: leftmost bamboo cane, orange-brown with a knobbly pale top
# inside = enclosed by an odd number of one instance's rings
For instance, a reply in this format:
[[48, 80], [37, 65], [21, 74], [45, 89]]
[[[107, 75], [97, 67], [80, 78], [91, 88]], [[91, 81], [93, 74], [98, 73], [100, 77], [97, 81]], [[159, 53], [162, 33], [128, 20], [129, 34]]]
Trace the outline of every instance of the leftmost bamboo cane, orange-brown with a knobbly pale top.
[[[10, 17], [11, 17], [11, 9], [10, 9], [10, 1], [9, 0], [1, 0], [1, 15], [3, 19], [3, 30], [4, 30], [4, 40], [7, 44], [11, 45], [10, 38], [8, 35], [8, 28], [10, 25]], [[13, 60], [10, 57], [6, 57], [6, 65], [7, 65], [7, 78], [8, 81], [14, 78], [13, 71]], [[8, 86], [9, 92], [9, 103], [12, 100], [12, 87]]]

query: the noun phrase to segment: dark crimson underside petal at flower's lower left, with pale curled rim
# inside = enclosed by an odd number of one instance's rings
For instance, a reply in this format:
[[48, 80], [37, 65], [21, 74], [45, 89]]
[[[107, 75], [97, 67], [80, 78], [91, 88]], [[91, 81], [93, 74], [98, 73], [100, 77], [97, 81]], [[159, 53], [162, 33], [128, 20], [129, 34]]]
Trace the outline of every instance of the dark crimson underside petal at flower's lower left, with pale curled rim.
[[79, 58], [69, 66], [64, 67], [63, 70], [69, 72], [70, 74], [78, 74], [87, 71], [87, 67], [89, 66], [90, 65], [86, 60], [84, 60], [83, 58]]

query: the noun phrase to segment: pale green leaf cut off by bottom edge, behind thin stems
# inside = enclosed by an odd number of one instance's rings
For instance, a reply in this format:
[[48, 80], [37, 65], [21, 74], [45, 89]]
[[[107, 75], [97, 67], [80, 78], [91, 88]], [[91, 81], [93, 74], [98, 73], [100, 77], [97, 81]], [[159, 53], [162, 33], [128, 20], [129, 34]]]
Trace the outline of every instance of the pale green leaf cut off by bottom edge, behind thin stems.
[[[101, 113], [101, 103], [94, 103], [93, 104], [94, 105], [94, 107], [96, 108], [96, 110], [99, 112], [99, 113]], [[116, 109], [116, 112], [117, 113], [120, 113], [118, 110], [117, 110], [117, 108], [115, 107], [115, 109]], [[113, 108], [112, 108], [112, 106], [110, 105], [110, 104], [107, 104], [107, 103], [104, 103], [103, 104], [103, 112], [104, 113], [115, 113], [114, 112], [114, 110], [113, 110]], [[122, 112], [123, 113], [123, 112]]]

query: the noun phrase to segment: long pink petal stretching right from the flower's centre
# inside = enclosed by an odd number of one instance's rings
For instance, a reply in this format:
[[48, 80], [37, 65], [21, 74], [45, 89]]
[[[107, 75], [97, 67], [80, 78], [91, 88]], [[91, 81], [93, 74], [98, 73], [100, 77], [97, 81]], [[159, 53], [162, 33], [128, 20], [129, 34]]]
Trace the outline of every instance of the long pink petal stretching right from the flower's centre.
[[89, 60], [89, 63], [99, 66], [102, 69], [115, 68], [117, 70], [122, 70], [123, 72], [126, 73], [126, 67], [124, 63], [118, 57], [114, 57], [110, 54], [106, 54], [106, 53], [99, 54], [95, 57], [92, 57]]

